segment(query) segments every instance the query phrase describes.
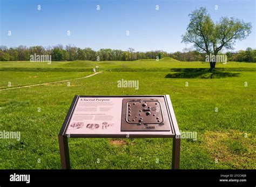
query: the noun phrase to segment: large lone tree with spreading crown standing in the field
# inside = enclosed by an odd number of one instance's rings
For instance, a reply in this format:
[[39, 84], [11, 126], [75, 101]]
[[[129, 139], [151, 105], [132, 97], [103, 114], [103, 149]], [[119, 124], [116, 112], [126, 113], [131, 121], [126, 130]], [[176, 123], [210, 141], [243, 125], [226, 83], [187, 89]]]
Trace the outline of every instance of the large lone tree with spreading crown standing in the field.
[[[235, 40], [245, 39], [251, 33], [251, 23], [238, 18], [221, 17], [213, 22], [206, 8], [192, 11], [188, 15], [190, 23], [182, 36], [183, 43], [193, 43], [199, 52], [217, 55], [223, 49], [233, 49]], [[215, 68], [215, 61], [210, 62], [210, 69]]]

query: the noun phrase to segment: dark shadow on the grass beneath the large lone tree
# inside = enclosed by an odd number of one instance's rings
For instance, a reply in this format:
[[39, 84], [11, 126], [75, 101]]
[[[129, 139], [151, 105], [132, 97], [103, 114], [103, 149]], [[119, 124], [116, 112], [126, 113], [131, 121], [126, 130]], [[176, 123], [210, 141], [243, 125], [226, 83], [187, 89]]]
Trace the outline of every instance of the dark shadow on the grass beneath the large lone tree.
[[240, 73], [229, 73], [229, 72], [179, 72], [169, 73], [165, 75], [165, 78], [172, 79], [219, 79], [227, 77], [239, 77]]

